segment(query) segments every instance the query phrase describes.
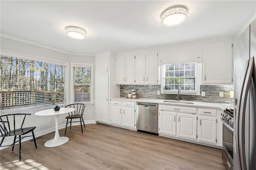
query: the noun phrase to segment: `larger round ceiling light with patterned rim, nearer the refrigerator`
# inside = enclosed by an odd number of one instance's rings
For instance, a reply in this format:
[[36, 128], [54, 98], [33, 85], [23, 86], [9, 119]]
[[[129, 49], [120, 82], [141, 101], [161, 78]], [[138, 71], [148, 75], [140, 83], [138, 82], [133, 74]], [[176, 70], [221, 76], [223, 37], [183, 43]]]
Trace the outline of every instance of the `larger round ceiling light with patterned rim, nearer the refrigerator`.
[[162, 14], [162, 25], [174, 27], [182, 24], [187, 19], [187, 9], [184, 6], [173, 6]]

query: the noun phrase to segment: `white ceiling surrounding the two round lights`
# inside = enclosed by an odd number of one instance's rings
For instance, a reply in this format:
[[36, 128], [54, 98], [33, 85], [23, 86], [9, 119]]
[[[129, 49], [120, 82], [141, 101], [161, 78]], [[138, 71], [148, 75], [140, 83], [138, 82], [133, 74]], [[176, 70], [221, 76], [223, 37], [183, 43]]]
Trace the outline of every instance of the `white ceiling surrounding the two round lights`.
[[[1, 34], [68, 53], [115, 53], [235, 36], [256, 13], [256, 1], [1, 1]], [[184, 5], [187, 20], [164, 27], [161, 13]], [[84, 40], [66, 26], [86, 30]], [[4, 35], [3, 35], [4, 36]]]

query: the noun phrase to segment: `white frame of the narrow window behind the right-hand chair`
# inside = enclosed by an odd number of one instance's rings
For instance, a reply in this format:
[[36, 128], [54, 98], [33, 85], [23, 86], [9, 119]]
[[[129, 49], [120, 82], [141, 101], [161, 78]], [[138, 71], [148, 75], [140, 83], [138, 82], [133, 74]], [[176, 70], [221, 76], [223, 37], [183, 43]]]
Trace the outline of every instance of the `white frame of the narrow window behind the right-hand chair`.
[[91, 84], [90, 84], [90, 102], [82, 102], [85, 104], [93, 104], [93, 82], [94, 82], [94, 77], [93, 77], [93, 64], [92, 63], [70, 63], [70, 101], [71, 103], [74, 103], [74, 67], [91, 67]]

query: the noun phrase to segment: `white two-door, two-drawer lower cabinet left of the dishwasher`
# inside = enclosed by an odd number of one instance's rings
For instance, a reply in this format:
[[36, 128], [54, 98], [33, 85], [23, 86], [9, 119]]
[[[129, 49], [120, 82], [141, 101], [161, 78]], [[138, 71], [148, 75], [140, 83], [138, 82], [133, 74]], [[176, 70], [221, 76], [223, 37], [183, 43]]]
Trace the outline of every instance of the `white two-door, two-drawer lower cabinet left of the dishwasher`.
[[135, 102], [111, 100], [111, 124], [136, 128]]

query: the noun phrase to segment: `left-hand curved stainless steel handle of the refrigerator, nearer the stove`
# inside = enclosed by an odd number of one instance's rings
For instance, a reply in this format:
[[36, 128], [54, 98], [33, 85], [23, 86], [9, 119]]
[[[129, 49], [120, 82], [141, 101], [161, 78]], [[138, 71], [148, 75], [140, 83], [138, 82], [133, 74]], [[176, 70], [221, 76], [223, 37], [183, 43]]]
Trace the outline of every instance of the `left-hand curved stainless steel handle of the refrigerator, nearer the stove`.
[[241, 101], [242, 101], [242, 94], [243, 94], [243, 89], [244, 89], [244, 83], [245, 83], [245, 79], [246, 79], [246, 75], [247, 75], [247, 71], [248, 71], [248, 65], [249, 65], [249, 60], [246, 60], [246, 65], [245, 65], [245, 74], [244, 74], [244, 78], [242, 81], [242, 88], [241, 88], [241, 92], [240, 92], [240, 97], [238, 99], [238, 109], [237, 109], [237, 113], [236, 113], [236, 122], [235, 122], [235, 138], [236, 138], [236, 152], [237, 152], [237, 157], [238, 157], [238, 167], [241, 170], [242, 165], [241, 165], [241, 157], [240, 157], [240, 108], [241, 108]]

